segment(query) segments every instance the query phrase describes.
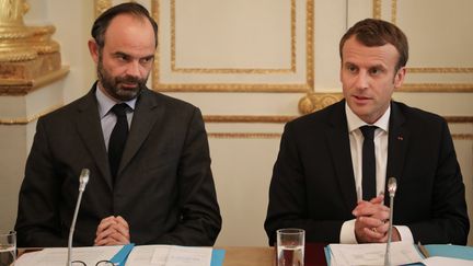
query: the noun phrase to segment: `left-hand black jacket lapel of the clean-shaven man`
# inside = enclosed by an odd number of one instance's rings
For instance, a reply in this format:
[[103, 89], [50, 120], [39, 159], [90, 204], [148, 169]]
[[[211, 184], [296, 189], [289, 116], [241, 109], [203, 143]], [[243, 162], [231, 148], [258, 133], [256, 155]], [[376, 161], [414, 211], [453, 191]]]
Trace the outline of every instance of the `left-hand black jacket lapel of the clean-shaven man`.
[[331, 114], [330, 122], [332, 128], [327, 130], [326, 137], [328, 139], [328, 150], [331, 151], [332, 161], [335, 165], [338, 186], [347, 209], [351, 211], [357, 204], [357, 195], [345, 115], [345, 101], [342, 101], [337, 105]]

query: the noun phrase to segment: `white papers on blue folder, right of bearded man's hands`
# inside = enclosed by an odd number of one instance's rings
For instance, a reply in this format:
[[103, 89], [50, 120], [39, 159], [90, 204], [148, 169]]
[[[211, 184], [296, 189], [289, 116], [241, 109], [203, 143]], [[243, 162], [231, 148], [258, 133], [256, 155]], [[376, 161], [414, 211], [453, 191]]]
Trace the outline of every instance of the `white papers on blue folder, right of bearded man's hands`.
[[176, 245], [138, 245], [130, 253], [127, 266], [209, 266], [211, 247]]

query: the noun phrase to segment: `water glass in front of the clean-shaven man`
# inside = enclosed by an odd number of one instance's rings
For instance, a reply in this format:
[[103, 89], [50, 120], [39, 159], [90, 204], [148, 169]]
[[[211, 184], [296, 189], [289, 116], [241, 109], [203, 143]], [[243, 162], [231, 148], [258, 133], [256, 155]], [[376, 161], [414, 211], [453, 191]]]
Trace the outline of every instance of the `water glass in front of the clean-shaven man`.
[[302, 229], [287, 228], [276, 231], [277, 238], [277, 265], [303, 266], [305, 231]]

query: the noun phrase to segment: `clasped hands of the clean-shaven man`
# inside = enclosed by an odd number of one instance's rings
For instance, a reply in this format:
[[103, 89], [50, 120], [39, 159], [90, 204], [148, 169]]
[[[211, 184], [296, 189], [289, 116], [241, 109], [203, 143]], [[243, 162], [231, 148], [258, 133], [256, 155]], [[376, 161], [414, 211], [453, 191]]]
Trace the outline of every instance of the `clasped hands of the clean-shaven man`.
[[[389, 212], [383, 205], [384, 196], [380, 195], [370, 201], [359, 201], [353, 210], [356, 217], [355, 235], [358, 243], [384, 243], [388, 241]], [[397, 230], [393, 235], [397, 235]], [[393, 238], [394, 240], [394, 238]]]

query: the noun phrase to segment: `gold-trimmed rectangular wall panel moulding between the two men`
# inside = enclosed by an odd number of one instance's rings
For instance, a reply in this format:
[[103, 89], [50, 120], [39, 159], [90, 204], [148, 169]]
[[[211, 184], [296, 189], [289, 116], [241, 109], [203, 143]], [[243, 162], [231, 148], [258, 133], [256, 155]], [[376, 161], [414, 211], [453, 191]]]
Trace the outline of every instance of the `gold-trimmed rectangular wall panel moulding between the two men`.
[[[275, 76], [275, 74], [290, 74], [296, 73], [296, 4], [297, 0], [289, 0], [291, 5], [290, 11], [290, 66], [288, 68], [182, 68], [176, 66], [176, 55], [175, 55], [175, 18], [176, 18], [176, 0], [169, 0], [171, 5], [171, 71], [173, 73], [194, 73], [194, 74], [257, 74], [259, 77], [264, 76]], [[159, 0], [151, 1], [151, 10], [154, 19], [160, 21], [161, 4]], [[157, 60], [154, 62], [152, 71], [152, 88], [158, 91], [164, 92], [307, 92], [313, 90], [314, 84], [314, 63], [313, 63], [313, 0], [305, 0], [305, 69], [304, 76], [305, 80], [300, 83], [277, 83], [270, 80], [264, 81], [262, 83], [239, 83], [239, 82], [208, 82], [208, 83], [165, 83], [160, 77], [160, 62], [161, 57], [158, 53]]]

